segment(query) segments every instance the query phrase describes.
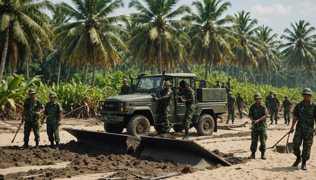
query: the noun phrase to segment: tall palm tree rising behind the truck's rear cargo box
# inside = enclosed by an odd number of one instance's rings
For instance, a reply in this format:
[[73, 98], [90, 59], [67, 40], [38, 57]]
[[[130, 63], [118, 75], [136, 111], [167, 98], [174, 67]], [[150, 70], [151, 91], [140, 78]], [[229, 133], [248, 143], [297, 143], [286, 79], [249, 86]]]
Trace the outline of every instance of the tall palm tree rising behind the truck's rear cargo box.
[[230, 43], [240, 46], [233, 37], [233, 31], [222, 26], [233, 23], [234, 17], [226, 15], [220, 19], [223, 13], [231, 6], [231, 3], [222, 0], [203, 0], [192, 3], [197, 9], [197, 14], [191, 13], [184, 16], [183, 20], [190, 20], [194, 23], [187, 34], [191, 37], [191, 52], [193, 60], [202, 64], [205, 62], [205, 79], [208, 76], [208, 65], [222, 65], [226, 57], [234, 58]]

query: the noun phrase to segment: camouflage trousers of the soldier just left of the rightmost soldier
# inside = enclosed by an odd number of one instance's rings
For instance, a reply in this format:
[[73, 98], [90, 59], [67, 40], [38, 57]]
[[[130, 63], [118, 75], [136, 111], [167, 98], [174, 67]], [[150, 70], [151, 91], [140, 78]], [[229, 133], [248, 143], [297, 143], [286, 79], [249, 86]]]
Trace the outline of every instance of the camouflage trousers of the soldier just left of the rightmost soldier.
[[259, 151], [265, 153], [265, 142], [267, 141], [267, 130], [251, 131], [251, 152], [256, 152], [258, 147], [258, 138], [260, 141]]

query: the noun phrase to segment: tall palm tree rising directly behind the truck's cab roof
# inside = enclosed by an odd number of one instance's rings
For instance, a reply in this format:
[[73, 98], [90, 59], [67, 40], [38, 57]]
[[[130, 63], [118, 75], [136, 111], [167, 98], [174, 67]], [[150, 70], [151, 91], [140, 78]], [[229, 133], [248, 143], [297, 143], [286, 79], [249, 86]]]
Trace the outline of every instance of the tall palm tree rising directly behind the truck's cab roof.
[[131, 0], [129, 8], [134, 7], [139, 12], [131, 20], [139, 24], [132, 32], [132, 38], [127, 42], [131, 53], [138, 59], [147, 61], [148, 65], [157, 65], [161, 73], [161, 64], [170, 61], [183, 61], [186, 56], [183, 43], [190, 43], [189, 37], [179, 28], [189, 27], [190, 22], [173, 20], [185, 13], [191, 13], [190, 7], [181, 5], [173, 11], [179, 0], [143, 0], [147, 8], [138, 0]]

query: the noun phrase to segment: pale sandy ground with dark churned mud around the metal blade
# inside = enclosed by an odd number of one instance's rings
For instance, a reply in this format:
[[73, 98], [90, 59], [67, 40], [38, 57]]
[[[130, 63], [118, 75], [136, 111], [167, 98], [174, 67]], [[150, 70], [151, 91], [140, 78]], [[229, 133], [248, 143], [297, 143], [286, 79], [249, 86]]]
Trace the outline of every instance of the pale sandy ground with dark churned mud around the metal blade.
[[[246, 116], [246, 115], [245, 115]], [[235, 116], [239, 117], [238, 115]], [[218, 120], [218, 125], [225, 125], [226, 115], [223, 115], [223, 122]], [[168, 179], [315, 179], [316, 172], [316, 151], [312, 147], [310, 160], [307, 161], [307, 171], [299, 167], [292, 167], [295, 161], [293, 153], [278, 153], [276, 148], [267, 149], [267, 160], [260, 159], [260, 152], [257, 151], [256, 159], [248, 160], [246, 157], [251, 154], [251, 130], [249, 130], [250, 119], [235, 119], [234, 125], [249, 123], [246, 127], [239, 127], [232, 130], [218, 130], [211, 136], [198, 136], [195, 128], [190, 129], [189, 136], [192, 140], [204, 146], [206, 149], [218, 149], [222, 153], [234, 154], [241, 157], [244, 164], [234, 166], [222, 166], [216, 169], [194, 169], [186, 165], [173, 164], [150, 159], [136, 159], [129, 155], [111, 155], [104, 149], [95, 149], [86, 144], [76, 142], [76, 138], [62, 127], [85, 129], [92, 131], [104, 131], [103, 123], [96, 119], [64, 119], [60, 130], [61, 146], [60, 151], [48, 148], [49, 142], [46, 135], [46, 126], [40, 128], [40, 149], [20, 149], [23, 144], [23, 128], [17, 134], [14, 143], [11, 143], [19, 121], [0, 121], [0, 180], [18, 179], [19, 177], [45, 173], [44, 176], [31, 179], [98, 179], [111, 174], [114, 177], [129, 177], [131, 172], [141, 176], [152, 176], [170, 172], [179, 172], [179, 176]], [[268, 122], [269, 123], [269, 122]], [[283, 125], [283, 117], [278, 125], [268, 124], [267, 147], [272, 147], [290, 129], [290, 126]], [[231, 124], [230, 124], [231, 125]], [[23, 127], [23, 125], [22, 125]], [[3, 130], [5, 129], [5, 130]], [[152, 127], [150, 135], [154, 135]], [[175, 138], [182, 138], [183, 132], [175, 133]], [[294, 134], [290, 134], [289, 142], [292, 142]], [[34, 135], [31, 133], [30, 146], [34, 147]], [[286, 144], [287, 137], [279, 143]], [[259, 146], [259, 144], [258, 144]], [[84, 148], [82, 148], [84, 147]], [[87, 153], [88, 152], [88, 153]], [[34, 160], [34, 158], [37, 158]], [[166, 166], [168, 168], [166, 168]], [[169, 167], [170, 166], [170, 167]], [[173, 167], [173, 168], [172, 168]], [[47, 177], [48, 176], [48, 177]], [[112, 175], [113, 176], [113, 175]]]

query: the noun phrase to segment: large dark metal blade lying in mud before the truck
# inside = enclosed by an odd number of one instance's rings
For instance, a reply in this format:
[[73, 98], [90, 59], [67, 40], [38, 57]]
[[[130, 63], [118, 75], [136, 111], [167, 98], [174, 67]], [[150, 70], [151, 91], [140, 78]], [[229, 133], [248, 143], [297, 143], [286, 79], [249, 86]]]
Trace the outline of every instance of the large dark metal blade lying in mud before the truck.
[[96, 147], [106, 148], [114, 153], [130, 154], [134, 156], [149, 156], [155, 160], [172, 160], [174, 163], [188, 164], [195, 168], [207, 166], [232, 166], [230, 162], [215, 153], [205, 149], [192, 140], [169, 139], [141, 136], [136, 138], [130, 135], [113, 134], [63, 128], [82, 141]]

